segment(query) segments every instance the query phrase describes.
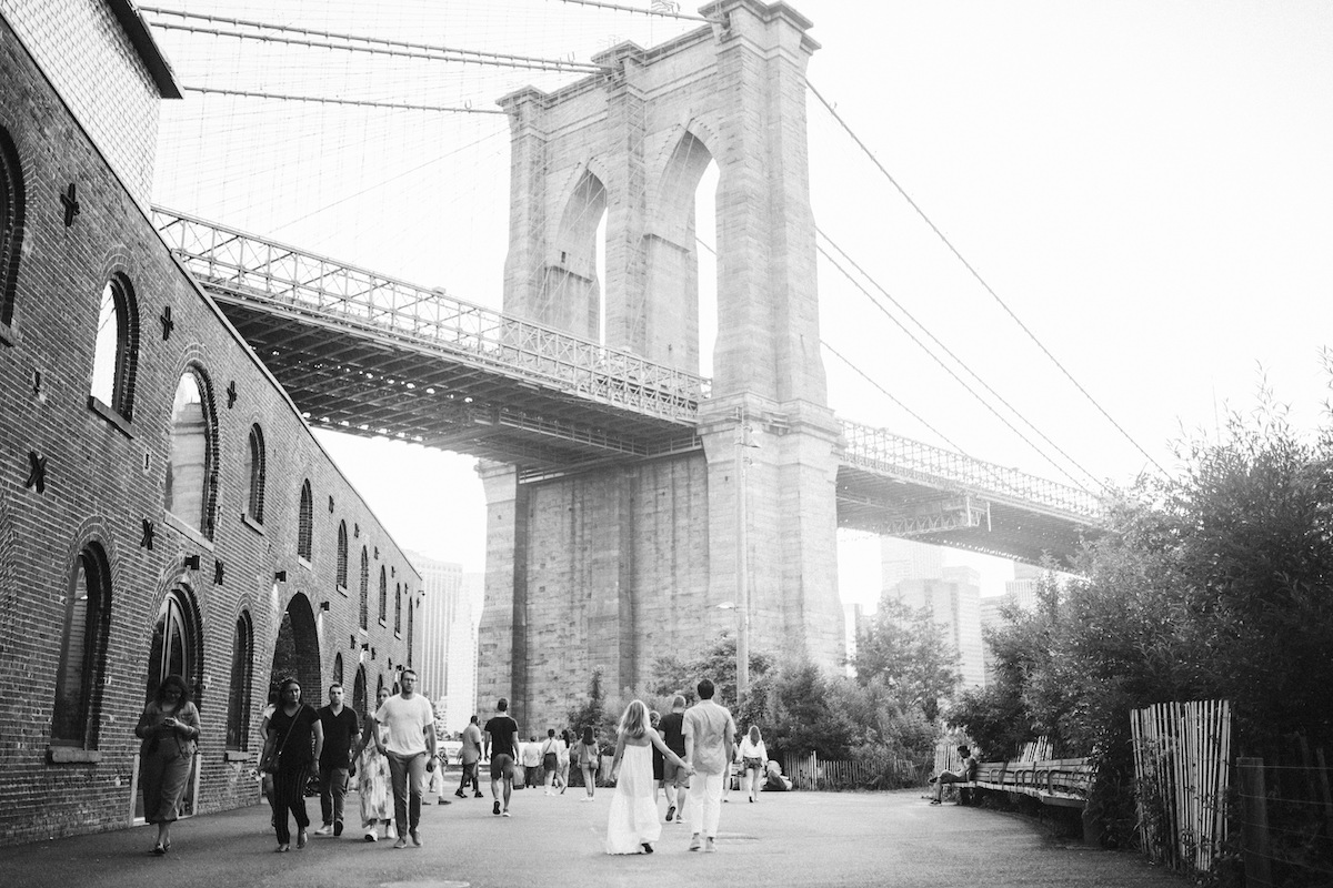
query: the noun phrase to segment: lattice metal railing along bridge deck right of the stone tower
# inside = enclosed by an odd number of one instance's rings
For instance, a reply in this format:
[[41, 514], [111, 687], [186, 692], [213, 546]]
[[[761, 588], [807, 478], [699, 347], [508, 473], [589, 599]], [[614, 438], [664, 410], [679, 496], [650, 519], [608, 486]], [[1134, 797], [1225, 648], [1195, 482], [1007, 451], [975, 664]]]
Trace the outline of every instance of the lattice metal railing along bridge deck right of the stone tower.
[[1040, 505], [1081, 518], [1102, 514], [1100, 501], [1085, 490], [1029, 475], [1017, 469], [964, 457], [952, 450], [842, 421], [846, 463], [917, 481], [932, 487], [952, 487], [978, 495], [1000, 497], [1025, 505]]

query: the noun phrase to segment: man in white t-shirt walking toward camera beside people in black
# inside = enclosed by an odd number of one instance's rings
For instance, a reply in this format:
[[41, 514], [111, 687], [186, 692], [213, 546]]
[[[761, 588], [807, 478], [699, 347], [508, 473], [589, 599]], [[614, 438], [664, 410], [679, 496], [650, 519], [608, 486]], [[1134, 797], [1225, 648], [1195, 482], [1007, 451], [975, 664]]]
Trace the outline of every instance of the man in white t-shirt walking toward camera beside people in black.
[[[393, 819], [399, 829], [395, 848], [407, 848], [405, 835], [421, 847], [417, 824], [421, 821], [421, 795], [425, 772], [435, 771], [435, 708], [416, 692], [416, 672], [404, 670], [399, 678], [401, 691], [384, 702], [371, 720], [371, 736], [380, 754], [389, 760], [393, 776]], [[380, 739], [380, 727], [388, 731], [388, 743]], [[388, 747], [388, 748], [385, 748]], [[411, 799], [408, 779], [411, 777]]]

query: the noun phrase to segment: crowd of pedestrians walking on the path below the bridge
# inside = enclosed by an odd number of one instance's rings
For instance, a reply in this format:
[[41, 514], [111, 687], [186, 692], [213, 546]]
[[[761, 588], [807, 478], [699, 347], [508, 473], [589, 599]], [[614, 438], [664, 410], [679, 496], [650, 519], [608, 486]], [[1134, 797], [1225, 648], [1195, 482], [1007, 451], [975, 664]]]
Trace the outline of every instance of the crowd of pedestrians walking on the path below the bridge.
[[[344, 703], [341, 684], [329, 686], [328, 704], [320, 708], [303, 700], [296, 679], [279, 684], [260, 726], [265, 738], [260, 771], [272, 808], [275, 851], [291, 849], [293, 824], [296, 848], [309, 843], [312, 824], [305, 799], [312, 779], [319, 785], [321, 816], [313, 835], [344, 835], [344, 807], [355, 780], [361, 839], [391, 840], [395, 848], [405, 848], [411, 840], [421, 847], [421, 807], [431, 804], [429, 796], [436, 796], [439, 804], [449, 804], [449, 799], [435, 711], [416, 692], [416, 674], [405, 670], [399, 691], [380, 688], [373, 710], [364, 718]], [[632, 700], [620, 716], [615, 743], [605, 747], [592, 726], [577, 734], [548, 728], [541, 740], [529, 735], [523, 742], [508, 700], [501, 698], [485, 724], [473, 715], [460, 735], [460, 777], [453, 795], [485, 797], [480, 784], [485, 763], [492, 813], [508, 817], [515, 789], [540, 785], [547, 796], [563, 795], [573, 766], [583, 776], [583, 801], [596, 797], [599, 779], [612, 787], [607, 853], [653, 853], [663, 823], [688, 824], [690, 851], [716, 851], [721, 803], [726, 801], [733, 767], [740, 766], [740, 788], [753, 803], [776, 763], [768, 760], [758, 726], [750, 726], [736, 743], [736, 722], [713, 699], [709, 679], [700, 680], [696, 691], [694, 706], [686, 708], [685, 698], [677, 695], [665, 716], [649, 711], [643, 700]], [[135, 734], [143, 740], [144, 815], [157, 825], [152, 852], [165, 855], [200, 734], [199, 710], [180, 676], [161, 682]], [[789, 785], [778, 780], [772, 788]], [[661, 796], [666, 801], [665, 817], [660, 816]]]

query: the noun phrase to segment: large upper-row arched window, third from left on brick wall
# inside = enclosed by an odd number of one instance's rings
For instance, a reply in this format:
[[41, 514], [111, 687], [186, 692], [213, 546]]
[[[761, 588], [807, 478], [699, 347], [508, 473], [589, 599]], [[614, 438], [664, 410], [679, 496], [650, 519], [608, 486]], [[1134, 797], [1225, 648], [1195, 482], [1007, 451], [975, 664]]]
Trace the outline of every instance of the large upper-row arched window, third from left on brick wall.
[[212, 539], [216, 446], [208, 383], [193, 370], [181, 374], [171, 411], [167, 511]]

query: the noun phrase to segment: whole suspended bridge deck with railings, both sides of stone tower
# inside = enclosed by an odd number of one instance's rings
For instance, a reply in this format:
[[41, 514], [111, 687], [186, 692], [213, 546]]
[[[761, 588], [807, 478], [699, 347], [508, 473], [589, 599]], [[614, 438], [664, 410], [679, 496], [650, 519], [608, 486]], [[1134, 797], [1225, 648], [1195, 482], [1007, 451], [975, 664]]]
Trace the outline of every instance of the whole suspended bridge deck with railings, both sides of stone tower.
[[[315, 426], [515, 463], [528, 481], [701, 449], [698, 375], [197, 217], [153, 220]], [[1066, 563], [1100, 526], [1082, 490], [842, 433], [841, 527]]]

